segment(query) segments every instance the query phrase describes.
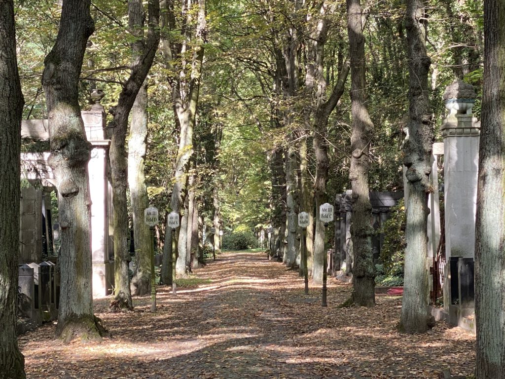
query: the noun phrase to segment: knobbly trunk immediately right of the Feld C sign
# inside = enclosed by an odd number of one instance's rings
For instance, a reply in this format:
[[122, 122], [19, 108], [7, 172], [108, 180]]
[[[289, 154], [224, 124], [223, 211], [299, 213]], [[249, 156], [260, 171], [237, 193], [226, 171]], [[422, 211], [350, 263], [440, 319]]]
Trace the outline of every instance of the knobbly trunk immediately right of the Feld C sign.
[[369, 145], [374, 125], [366, 106], [365, 38], [362, 30], [360, 0], [347, 0], [352, 113], [349, 180], [353, 200], [351, 235], [354, 249], [351, 299], [358, 306], [371, 307], [375, 305], [375, 266], [372, 255], [373, 228], [370, 225], [372, 205], [369, 199], [368, 172]]

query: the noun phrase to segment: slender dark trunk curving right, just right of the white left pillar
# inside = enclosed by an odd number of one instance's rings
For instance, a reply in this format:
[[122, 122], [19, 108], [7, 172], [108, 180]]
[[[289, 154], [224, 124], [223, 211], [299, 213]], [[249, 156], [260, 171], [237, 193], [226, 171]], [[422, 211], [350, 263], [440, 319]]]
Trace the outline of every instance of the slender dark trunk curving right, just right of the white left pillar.
[[[126, 131], [128, 116], [133, 107], [138, 91], [153, 64], [160, 31], [160, 7], [158, 0], [148, 2], [148, 32], [143, 33], [143, 6], [140, 0], [128, 2], [129, 28], [138, 39], [134, 42], [135, 60], [130, 77], [119, 95], [114, 118], [109, 124], [112, 130], [109, 159], [111, 162], [112, 192], [114, 207], [114, 295], [111, 304], [114, 309], [132, 309], [129, 279], [129, 246], [128, 246], [128, 207], [126, 192], [128, 189], [128, 164], [126, 153]], [[150, 271], [150, 270], [149, 270]]]

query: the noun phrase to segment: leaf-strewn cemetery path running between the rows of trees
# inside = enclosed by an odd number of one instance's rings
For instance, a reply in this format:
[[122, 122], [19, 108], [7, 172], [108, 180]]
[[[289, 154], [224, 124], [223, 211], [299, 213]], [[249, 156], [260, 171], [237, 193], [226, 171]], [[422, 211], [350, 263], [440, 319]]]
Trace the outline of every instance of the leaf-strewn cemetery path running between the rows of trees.
[[[474, 370], [475, 337], [445, 323], [426, 335], [395, 330], [401, 298], [378, 296], [373, 309], [339, 309], [351, 287], [329, 279], [304, 295], [294, 270], [264, 253], [229, 252], [194, 272], [174, 295], [162, 286], [135, 310], [95, 312], [112, 332], [98, 344], [53, 341], [54, 325], [20, 337], [28, 378], [435, 378]], [[199, 284], [197, 284], [199, 283]]]

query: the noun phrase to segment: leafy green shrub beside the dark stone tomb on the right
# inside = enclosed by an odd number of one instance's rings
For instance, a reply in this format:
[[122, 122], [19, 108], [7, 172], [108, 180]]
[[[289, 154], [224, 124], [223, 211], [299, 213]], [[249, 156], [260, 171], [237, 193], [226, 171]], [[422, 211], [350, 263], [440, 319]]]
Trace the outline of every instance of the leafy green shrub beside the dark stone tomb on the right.
[[376, 265], [376, 282], [383, 286], [400, 286], [403, 284], [403, 261], [405, 258], [406, 226], [405, 203], [401, 199], [391, 208], [388, 218], [379, 229], [384, 233], [384, 243], [380, 252], [380, 264]]

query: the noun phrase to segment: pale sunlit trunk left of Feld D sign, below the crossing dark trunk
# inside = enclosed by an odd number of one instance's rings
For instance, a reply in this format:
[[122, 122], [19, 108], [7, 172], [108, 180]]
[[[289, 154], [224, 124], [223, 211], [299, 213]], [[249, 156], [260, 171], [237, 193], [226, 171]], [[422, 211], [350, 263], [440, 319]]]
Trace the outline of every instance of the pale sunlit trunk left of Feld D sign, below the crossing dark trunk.
[[140, 87], [133, 103], [128, 138], [128, 184], [133, 215], [133, 243], [135, 245], [135, 272], [130, 283], [132, 295], [150, 293], [150, 232], [144, 223], [144, 209], [149, 206], [145, 186], [144, 159], [147, 140], [147, 80]]

